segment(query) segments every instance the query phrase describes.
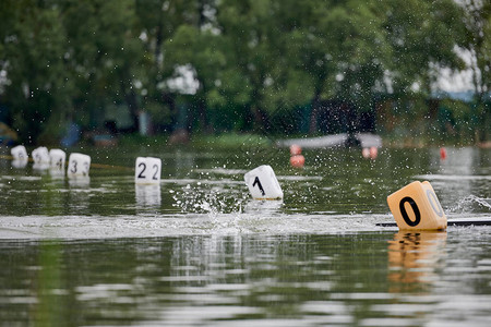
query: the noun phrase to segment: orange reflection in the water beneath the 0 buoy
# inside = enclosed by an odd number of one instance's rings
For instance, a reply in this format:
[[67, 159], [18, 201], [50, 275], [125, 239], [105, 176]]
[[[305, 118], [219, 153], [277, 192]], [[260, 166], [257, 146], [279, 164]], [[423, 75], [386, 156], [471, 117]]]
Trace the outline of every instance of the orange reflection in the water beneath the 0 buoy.
[[427, 291], [443, 266], [446, 237], [446, 232], [397, 232], [388, 241], [390, 291]]

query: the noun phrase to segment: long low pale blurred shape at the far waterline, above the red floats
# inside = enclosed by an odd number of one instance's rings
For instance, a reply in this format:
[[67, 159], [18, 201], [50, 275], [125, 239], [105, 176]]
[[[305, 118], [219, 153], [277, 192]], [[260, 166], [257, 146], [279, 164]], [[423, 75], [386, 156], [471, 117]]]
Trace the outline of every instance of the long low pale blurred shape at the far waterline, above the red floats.
[[276, 142], [278, 147], [289, 147], [294, 144], [302, 148], [328, 148], [350, 145], [370, 148], [382, 147], [382, 137], [372, 133], [356, 133], [350, 137], [348, 133], [342, 133], [319, 137], [279, 140]]

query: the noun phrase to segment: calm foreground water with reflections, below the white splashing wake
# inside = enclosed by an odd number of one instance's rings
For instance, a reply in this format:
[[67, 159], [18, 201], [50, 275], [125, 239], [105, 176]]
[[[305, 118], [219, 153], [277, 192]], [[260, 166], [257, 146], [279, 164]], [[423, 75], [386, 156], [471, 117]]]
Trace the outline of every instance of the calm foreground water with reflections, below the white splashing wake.
[[464, 243], [422, 232], [0, 242], [0, 320], [448, 326], [460, 316], [484, 326], [491, 259], [479, 244], [489, 234]]

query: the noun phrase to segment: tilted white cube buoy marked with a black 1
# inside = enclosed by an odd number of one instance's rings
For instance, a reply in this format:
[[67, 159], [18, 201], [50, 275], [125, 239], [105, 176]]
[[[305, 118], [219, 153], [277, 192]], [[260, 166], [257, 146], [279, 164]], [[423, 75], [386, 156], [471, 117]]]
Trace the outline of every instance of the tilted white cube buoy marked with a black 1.
[[249, 192], [255, 199], [282, 199], [283, 191], [273, 168], [263, 165], [243, 175]]

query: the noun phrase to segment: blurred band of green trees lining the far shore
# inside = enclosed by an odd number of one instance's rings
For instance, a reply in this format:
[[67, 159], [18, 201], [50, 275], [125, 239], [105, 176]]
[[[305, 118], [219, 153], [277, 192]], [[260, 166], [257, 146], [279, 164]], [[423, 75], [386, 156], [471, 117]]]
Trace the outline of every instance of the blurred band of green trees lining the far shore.
[[[480, 143], [490, 13], [486, 0], [2, 0], [0, 121], [26, 144], [69, 126]], [[470, 71], [470, 92], [441, 92], [442, 70]]]

